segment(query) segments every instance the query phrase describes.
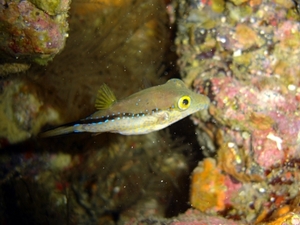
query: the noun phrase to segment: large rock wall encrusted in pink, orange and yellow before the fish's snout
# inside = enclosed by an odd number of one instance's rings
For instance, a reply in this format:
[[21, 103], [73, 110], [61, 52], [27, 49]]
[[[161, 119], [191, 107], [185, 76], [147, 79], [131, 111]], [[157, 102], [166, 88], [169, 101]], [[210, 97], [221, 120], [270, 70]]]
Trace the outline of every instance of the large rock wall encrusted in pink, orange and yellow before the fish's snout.
[[195, 169], [192, 205], [249, 223], [277, 224], [299, 213], [293, 203], [300, 195], [297, 4], [177, 3], [181, 75], [212, 101], [211, 118], [194, 121], [206, 155], [217, 161], [205, 159]]

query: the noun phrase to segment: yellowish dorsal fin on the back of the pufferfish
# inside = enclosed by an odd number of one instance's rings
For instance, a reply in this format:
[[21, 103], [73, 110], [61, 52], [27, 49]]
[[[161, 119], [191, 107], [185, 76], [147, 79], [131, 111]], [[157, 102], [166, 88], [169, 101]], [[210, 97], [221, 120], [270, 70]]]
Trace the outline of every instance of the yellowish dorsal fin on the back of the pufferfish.
[[108, 109], [111, 105], [113, 105], [117, 101], [114, 93], [106, 84], [102, 84], [100, 89], [98, 90], [97, 98], [95, 101], [96, 109]]

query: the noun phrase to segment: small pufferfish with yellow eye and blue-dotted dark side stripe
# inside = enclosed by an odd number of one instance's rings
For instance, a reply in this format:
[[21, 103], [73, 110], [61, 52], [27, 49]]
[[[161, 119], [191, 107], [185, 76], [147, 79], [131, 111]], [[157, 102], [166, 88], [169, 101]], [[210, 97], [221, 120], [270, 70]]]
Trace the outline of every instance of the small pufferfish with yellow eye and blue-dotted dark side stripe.
[[46, 131], [41, 136], [78, 132], [147, 134], [207, 109], [209, 103], [208, 97], [189, 90], [179, 79], [171, 79], [122, 100], [117, 100], [111, 89], [103, 84], [95, 103], [98, 111], [85, 119]]

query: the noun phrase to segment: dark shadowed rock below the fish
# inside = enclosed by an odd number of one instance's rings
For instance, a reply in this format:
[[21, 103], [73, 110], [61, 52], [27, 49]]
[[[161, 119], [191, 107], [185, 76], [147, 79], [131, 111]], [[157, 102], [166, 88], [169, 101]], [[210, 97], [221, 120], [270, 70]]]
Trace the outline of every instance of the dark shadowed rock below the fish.
[[163, 218], [168, 207], [176, 210], [188, 197], [180, 180], [188, 178], [183, 153], [189, 146], [168, 131], [73, 135], [14, 150], [0, 158], [0, 219], [8, 224], [113, 224], [116, 218], [125, 224], [132, 217]]

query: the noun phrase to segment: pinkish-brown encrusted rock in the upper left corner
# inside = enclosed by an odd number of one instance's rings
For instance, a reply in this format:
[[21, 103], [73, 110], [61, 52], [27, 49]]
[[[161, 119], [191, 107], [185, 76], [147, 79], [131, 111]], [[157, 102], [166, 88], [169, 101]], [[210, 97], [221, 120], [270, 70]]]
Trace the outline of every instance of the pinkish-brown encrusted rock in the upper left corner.
[[64, 48], [70, 2], [0, 2], [0, 76], [24, 71], [32, 62], [46, 64]]

